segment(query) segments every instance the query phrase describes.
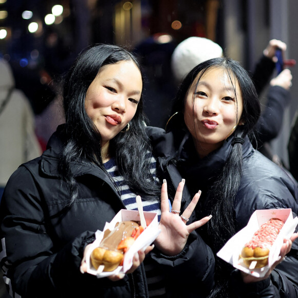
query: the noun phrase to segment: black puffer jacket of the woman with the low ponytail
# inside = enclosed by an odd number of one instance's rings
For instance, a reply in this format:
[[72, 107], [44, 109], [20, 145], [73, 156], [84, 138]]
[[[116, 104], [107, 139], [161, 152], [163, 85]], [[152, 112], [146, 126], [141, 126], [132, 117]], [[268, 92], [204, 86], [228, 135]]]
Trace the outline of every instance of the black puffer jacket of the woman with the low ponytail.
[[[197, 216], [209, 215], [204, 211], [206, 194], [214, 177], [220, 171], [231, 148], [231, 140], [219, 150], [199, 160], [192, 139], [183, 131], [165, 133], [163, 129], [147, 127], [154, 147], [155, 157], [164, 164], [167, 175], [172, 175], [171, 165], [178, 169], [185, 178], [192, 193], [202, 191], [197, 207]], [[185, 148], [187, 152], [185, 152]], [[250, 216], [258, 209], [291, 208], [293, 215], [298, 214], [298, 190], [295, 183], [276, 164], [255, 151], [245, 139], [243, 144], [243, 173], [240, 187], [234, 201], [236, 229], [244, 228]], [[202, 203], [203, 202], [203, 203]], [[213, 216], [211, 220], [216, 220]], [[236, 231], [236, 232], [237, 232]], [[206, 243], [210, 237], [204, 226], [199, 231]], [[298, 296], [298, 240], [294, 241], [288, 257], [276, 267], [266, 281], [244, 285], [235, 272], [231, 284], [237, 297], [297, 297]], [[229, 277], [227, 276], [227, 279]]]

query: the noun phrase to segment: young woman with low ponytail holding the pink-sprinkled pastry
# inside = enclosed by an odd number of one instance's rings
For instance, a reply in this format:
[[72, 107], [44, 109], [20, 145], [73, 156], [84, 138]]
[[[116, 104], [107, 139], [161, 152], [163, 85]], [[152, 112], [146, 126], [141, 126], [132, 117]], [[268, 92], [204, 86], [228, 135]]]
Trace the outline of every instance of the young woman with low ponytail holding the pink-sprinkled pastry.
[[[200, 235], [214, 254], [257, 209], [291, 208], [298, 214], [294, 181], [250, 143], [260, 104], [239, 63], [216, 58], [194, 67], [179, 88], [174, 112], [166, 132], [148, 127], [147, 134], [165, 174], [177, 166], [191, 193], [202, 191], [196, 214], [213, 216]], [[297, 297], [298, 246], [291, 242], [296, 237], [285, 240], [281, 257], [288, 257], [265, 278], [240, 275], [217, 258], [210, 297]]]

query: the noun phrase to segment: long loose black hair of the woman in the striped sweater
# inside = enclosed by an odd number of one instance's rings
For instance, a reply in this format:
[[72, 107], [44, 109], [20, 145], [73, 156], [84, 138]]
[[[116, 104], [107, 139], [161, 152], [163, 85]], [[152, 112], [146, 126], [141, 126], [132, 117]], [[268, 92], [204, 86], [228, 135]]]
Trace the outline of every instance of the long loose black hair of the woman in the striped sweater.
[[[105, 171], [101, 157], [101, 136], [86, 113], [85, 97], [102, 67], [121, 61], [133, 61], [141, 72], [137, 59], [128, 50], [116, 45], [92, 45], [79, 55], [63, 79], [66, 142], [60, 159], [60, 172], [69, 185], [69, 204], [78, 195], [78, 184], [71, 173], [71, 161], [84, 158]], [[160, 187], [150, 173], [150, 159], [147, 157], [151, 148], [144, 131], [145, 122], [141, 96], [128, 131], [119, 133], [110, 141], [110, 154], [115, 157], [118, 170], [130, 189], [148, 199], [158, 197]]]

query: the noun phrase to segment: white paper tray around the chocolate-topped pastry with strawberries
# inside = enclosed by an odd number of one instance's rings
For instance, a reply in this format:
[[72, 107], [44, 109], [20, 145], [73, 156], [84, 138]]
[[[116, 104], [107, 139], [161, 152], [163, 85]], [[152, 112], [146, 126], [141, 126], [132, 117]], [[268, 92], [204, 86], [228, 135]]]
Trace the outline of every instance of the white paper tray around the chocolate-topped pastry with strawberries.
[[146, 249], [148, 246], [150, 246], [160, 233], [160, 230], [158, 229], [157, 213], [144, 212], [144, 216], [145, 216], [147, 228], [135, 240], [132, 247], [129, 248], [129, 250], [124, 254], [123, 266], [118, 266], [114, 271], [102, 272], [100, 274], [97, 274], [96, 269], [92, 266], [90, 262], [90, 254], [95, 248], [99, 247], [100, 242], [103, 238], [103, 234], [104, 234], [103, 232], [106, 229], [109, 229], [112, 231], [115, 228], [115, 225], [117, 224], [117, 222], [120, 222], [120, 221], [125, 221], [125, 220], [140, 221], [140, 214], [139, 214], [139, 211], [136, 211], [136, 210], [122, 209], [115, 215], [115, 217], [110, 222], [106, 222], [103, 231], [96, 232], [95, 234], [96, 239], [94, 243], [90, 245], [90, 249], [87, 251], [87, 254], [86, 254], [87, 272], [92, 275], [97, 275], [98, 278], [102, 278], [113, 274], [125, 273], [126, 271], [131, 269], [133, 265], [134, 254], [137, 251], [141, 249]]

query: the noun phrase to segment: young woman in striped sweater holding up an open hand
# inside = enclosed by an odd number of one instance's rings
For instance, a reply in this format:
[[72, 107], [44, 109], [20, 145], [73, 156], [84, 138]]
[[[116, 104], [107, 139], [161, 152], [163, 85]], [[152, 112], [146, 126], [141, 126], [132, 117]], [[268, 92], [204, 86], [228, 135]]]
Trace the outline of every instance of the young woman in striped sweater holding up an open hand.
[[[118, 46], [91, 46], [63, 86], [66, 123], [40, 158], [18, 168], [4, 191], [6, 283], [30, 298], [206, 296], [213, 286], [214, 256], [193, 231], [210, 217], [192, 222], [199, 194], [193, 200], [185, 191], [182, 195], [181, 176], [175, 185], [161, 185], [157, 178], [135, 57]], [[171, 212], [167, 185], [174, 190]], [[160, 220], [154, 250], [136, 253], [127, 274], [98, 279], [85, 273], [83, 255], [95, 231], [119, 210], [137, 209], [136, 195]], [[192, 223], [186, 225], [188, 218]]]

